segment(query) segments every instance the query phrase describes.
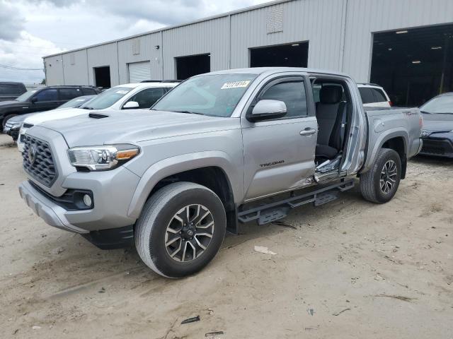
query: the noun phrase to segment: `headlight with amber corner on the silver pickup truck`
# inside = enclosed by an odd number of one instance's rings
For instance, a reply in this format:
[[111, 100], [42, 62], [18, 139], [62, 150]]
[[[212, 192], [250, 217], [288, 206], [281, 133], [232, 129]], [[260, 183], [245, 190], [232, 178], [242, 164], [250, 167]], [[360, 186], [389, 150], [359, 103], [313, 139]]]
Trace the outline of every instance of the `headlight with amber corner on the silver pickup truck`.
[[74, 167], [91, 171], [105, 171], [118, 167], [140, 153], [136, 145], [102, 145], [74, 147], [68, 150], [69, 161]]

